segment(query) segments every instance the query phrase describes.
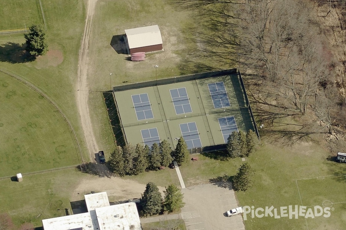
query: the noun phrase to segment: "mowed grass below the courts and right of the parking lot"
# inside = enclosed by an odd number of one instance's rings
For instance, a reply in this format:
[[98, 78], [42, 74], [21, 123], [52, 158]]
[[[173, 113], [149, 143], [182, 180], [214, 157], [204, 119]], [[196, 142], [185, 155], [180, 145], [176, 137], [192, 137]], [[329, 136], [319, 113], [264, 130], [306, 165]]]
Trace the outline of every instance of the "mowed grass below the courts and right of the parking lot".
[[[281, 146], [277, 143], [266, 143], [265, 137], [262, 139], [263, 146], [252, 156], [246, 158], [245, 162], [256, 169], [255, 186], [246, 192], [236, 192], [239, 206], [254, 206], [255, 209], [274, 206], [279, 210], [280, 207], [290, 205], [300, 206], [302, 203], [295, 180], [335, 175], [346, 171], [345, 164], [326, 160], [329, 153], [317, 144], [300, 142], [292, 146]], [[233, 176], [239, 166], [244, 163], [239, 158], [229, 161], [214, 160], [201, 155], [198, 158], [198, 161], [189, 162], [188, 165], [180, 167], [186, 186], [213, 183], [222, 180], [225, 175]], [[299, 180], [299, 188], [303, 190], [301, 191], [301, 197], [304, 199], [303, 205], [311, 202], [313, 205], [319, 205], [327, 199], [336, 200], [332, 202], [346, 201], [344, 179], [333, 176], [328, 180], [319, 183], [313, 183], [312, 180]], [[244, 224], [246, 229], [308, 229], [307, 224], [309, 229], [343, 229], [345, 204], [333, 204], [335, 210], [331, 211], [329, 218], [309, 218], [306, 222], [304, 217], [296, 220], [288, 217], [281, 219], [255, 217], [252, 219], [248, 216]]]

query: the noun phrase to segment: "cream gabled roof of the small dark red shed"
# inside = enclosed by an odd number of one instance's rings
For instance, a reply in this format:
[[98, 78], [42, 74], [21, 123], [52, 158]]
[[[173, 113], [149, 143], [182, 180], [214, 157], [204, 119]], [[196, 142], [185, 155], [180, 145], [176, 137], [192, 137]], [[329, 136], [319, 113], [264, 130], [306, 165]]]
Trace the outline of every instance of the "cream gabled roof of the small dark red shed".
[[157, 25], [125, 30], [130, 49], [162, 44], [160, 29]]

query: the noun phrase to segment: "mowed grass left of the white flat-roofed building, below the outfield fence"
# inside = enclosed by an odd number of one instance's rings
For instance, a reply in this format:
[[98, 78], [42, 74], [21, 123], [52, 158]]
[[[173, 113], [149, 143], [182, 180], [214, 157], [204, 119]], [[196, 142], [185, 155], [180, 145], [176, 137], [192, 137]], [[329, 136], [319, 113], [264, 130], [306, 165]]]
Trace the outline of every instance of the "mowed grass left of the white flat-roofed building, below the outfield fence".
[[[23, 177], [22, 182], [0, 181], [1, 213], [8, 213], [19, 226], [31, 222], [42, 226], [42, 220], [66, 216], [78, 181], [90, 177], [75, 169]], [[63, 183], [62, 183], [63, 181]]]

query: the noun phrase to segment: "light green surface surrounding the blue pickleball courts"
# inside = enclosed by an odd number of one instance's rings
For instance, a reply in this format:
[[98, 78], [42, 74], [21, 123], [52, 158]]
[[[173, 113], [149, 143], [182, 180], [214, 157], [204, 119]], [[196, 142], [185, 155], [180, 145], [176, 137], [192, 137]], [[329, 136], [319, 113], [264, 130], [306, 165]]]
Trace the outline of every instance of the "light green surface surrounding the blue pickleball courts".
[[[228, 97], [230, 106], [215, 108], [208, 84], [216, 82], [224, 82], [227, 91], [226, 97]], [[182, 104], [190, 104], [192, 112], [179, 114], [182, 111], [189, 110], [175, 108], [180, 106], [180, 101], [176, 102], [175, 99], [172, 99], [172, 97], [175, 98], [170, 91], [172, 89], [182, 91], [183, 94], [181, 95], [184, 96], [179, 96], [179, 98], [185, 97]], [[185, 92], [187, 96], [184, 94]], [[134, 106], [134, 103], [140, 105], [139, 102], [143, 102], [142, 99], [139, 99], [139, 96], [134, 95], [142, 95], [143, 93], [148, 95], [148, 97], [145, 95], [145, 98], [149, 100], [149, 102], [144, 103], [146, 106], [143, 107], [143, 110], [151, 114], [151, 111], [149, 111], [151, 109], [154, 118], [145, 119], [144, 112], [140, 111], [142, 107], [138, 108], [136, 106], [135, 108]], [[181, 137], [182, 132], [184, 132], [181, 130], [180, 124], [190, 122], [195, 122], [197, 126], [195, 132], [198, 132], [203, 147], [224, 144], [225, 141], [218, 118], [225, 117], [234, 117], [236, 122], [235, 130], [247, 132], [249, 129], [253, 129], [253, 123], [237, 74], [115, 91], [114, 95], [127, 142], [133, 144], [144, 144], [141, 130], [157, 128], [160, 140], [167, 139], [171, 146], [175, 148], [175, 139]], [[137, 99], [133, 99], [131, 96], [137, 97]], [[187, 106], [189, 107], [189, 105]], [[198, 139], [198, 137], [196, 138]]]

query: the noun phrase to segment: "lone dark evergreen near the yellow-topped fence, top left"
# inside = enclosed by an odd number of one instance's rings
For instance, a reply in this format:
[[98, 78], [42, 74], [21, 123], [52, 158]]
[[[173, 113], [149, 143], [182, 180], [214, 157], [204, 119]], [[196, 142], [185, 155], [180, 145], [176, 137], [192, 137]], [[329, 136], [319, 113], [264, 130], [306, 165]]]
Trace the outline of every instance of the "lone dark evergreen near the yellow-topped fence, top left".
[[40, 24], [33, 24], [29, 29], [30, 32], [24, 34], [26, 51], [33, 56], [45, 54], [48, 51], [45, 29]]

